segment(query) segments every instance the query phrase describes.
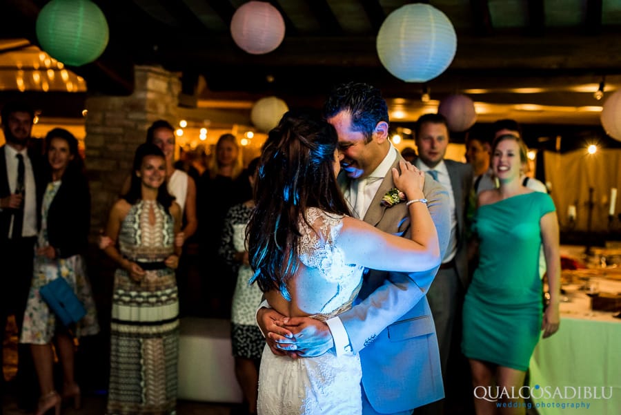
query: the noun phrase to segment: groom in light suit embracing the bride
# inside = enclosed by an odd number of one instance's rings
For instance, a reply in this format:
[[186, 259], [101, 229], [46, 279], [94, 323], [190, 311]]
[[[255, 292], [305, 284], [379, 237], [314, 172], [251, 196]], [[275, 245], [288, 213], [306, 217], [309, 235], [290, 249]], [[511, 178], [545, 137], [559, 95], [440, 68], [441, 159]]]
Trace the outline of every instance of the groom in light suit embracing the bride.
[[[402, 160], [388, 141], [388, 107], [377, 88], [344, 84], [333, 90], [324, 116], [336, 129], [344, 155], [339, 182], [353, 215], [382, 231], [409, 237], [405, 203], [380, 203], [393, 189], [393, 166]], [[441, 254], [449, 240], [449, 195], [426, 175], [424, 195], [437, 228]], [[433, 318], [425, 297], [437, 268], [395, 273], [365, 270], [352, 309], [320, 322], [260, 309], [257, 320], [275, 354], [319, 356], [359, 353], [364, 415], [411, 414], [444, 396]], [[295, 337], [284, 337], [290, 331]]]

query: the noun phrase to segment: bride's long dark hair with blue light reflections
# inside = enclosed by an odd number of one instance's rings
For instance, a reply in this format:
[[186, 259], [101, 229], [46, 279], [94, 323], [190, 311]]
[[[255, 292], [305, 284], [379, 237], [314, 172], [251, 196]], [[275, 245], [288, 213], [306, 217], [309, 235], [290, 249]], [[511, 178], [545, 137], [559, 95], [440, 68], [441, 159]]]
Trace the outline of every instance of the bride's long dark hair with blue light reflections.
[[246, 238], [250, 266], [262, 291], [289, 300], [287, 280], [297, 269], [299, 220], [306, 209], [350, 215], [334, 174], [337, 133], [309, 113], [286, 113], [268, 134], [255, 183], [256, 207]]

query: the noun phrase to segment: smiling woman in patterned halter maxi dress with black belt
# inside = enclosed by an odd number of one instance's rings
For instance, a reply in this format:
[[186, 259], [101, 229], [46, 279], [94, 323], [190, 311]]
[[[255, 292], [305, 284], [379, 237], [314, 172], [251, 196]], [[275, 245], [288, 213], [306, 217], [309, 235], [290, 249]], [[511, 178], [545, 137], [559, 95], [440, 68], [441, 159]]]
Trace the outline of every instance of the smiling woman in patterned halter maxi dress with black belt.
[[109, 415], [175, 414], [179, 301], [175, 235], [181, 208], [166, 190], [166, 159], [136, 151], [129, 192], [112, 206], [106, 253], [119, 264], [112, 291]]

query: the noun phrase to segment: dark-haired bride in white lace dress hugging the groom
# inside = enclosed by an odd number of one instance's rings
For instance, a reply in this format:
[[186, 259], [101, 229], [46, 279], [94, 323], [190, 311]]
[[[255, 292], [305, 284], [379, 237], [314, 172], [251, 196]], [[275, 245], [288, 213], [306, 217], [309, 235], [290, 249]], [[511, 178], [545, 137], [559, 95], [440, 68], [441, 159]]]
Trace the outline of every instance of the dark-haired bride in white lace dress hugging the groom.
[[[415, 224], [408, 240], [350, 216], [336, 182], [340, 158], [333, 126], [309, 115], [286, 113], [264, 145], [248, 251], [253, 279], [284, 316], [326, 320], [346, 311], [364, 267], [413, 272], [440, 263], [423, 173], [404, 161], [392, 172]], [[360, 414], [361, 376], [357, 354], [292, 358], [266, 346], [258, 412]]]

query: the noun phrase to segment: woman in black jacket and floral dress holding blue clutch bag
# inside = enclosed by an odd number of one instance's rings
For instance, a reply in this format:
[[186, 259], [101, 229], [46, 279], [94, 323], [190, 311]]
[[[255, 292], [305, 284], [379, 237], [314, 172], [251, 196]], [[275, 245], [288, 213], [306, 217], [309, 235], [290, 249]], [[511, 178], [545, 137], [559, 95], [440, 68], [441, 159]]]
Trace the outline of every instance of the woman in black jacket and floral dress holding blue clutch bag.
[[52, 407], [59, 414], [61, 396], [53, 379], [54, 353], [52, 338], [63, 368], [63, 398], [73, 398], [80, 404], [80, 388], [74, 378], [74, 343], [70, 332], [63, 327], [46, 302], [39, 288], [56, 278], [65, 278], [86, 308], [86, 316], [77, 323], [75, 334], [97, 334], [99, 325], [95, 302], [86, 278], [81, 255], [88, 244], [90, 228], [90, 193], [78, 153], [77, 139], [62, 128], [46, 136], [46, 190], [41, 204], [41, 230], [34, 256], [34, 276], [30, 287], [20, 342], [30, 343], [34, 367], [39, 378], [41, 399], [37, 414]]

